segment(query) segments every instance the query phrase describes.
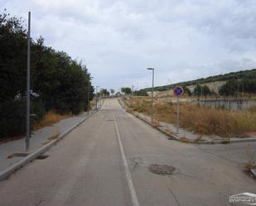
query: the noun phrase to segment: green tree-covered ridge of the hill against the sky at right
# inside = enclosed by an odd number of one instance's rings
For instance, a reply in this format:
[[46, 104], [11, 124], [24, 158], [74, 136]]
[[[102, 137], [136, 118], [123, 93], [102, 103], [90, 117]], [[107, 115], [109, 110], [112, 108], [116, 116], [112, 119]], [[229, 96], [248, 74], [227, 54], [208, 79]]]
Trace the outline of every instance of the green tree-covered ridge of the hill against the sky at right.
[[[155, 87], [154, 89], [157, 91], [165, 91], [167, 89], [175, 87], [176, 85], [188, 87], [188, 86], [192, 86], [192, 85], [196, 85], [196, 84], [207, 84], [207, 83], [212, 83], [212, 82], [221, 82], [221, 81], [226, 81], [229, 79], [256, 79], [256, 69], [248, 69], [248, 70], [243, 70], [243, 71], [238, 71], [238, 72], [230, 72], [228, 74], [219, 74], [219, 75], [210, 76], [207, 78], [201, 78], [201, 79], [196, 79], [196, 80], [191, 80], [191, 81], [186, 81], [186, 82], [180, 82], [180, 83], [176, 83], [176, 84], [158, 86], [158, 87]], [[151, 91], [151, 88], [145, 88], [143, 90]]]

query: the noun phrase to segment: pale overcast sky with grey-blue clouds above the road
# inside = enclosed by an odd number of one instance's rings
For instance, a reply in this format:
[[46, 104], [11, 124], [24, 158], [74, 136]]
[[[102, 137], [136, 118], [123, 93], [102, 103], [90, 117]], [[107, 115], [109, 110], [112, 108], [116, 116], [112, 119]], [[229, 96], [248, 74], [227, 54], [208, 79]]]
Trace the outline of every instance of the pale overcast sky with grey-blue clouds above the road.
[[255, 0], [0, 0], [31, 36], [85, 60], [94, 85], [135, 89], [256, 68]]

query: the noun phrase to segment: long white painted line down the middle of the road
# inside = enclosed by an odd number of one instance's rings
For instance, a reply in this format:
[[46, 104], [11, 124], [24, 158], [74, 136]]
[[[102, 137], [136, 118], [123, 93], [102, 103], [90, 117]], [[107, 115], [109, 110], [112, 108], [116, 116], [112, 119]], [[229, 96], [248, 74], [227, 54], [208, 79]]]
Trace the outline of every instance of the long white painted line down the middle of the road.
[[128, 186], [129, 186], [133, 206], [139, 206], [138, 197], [137, 197], [136, 191], [135, 191], [134, 186], [133, 186], [132, 175], [131, 175], [130, 170], [128, 168], [128, 163], [127, 163], [127, 160], [126, 160], [126, 156], [125, 156], [125, 153], [123, 151], [123, 144], [122, 144], [121, 137], [120, 137], [120, 134], [119, 134], [118, 124], [117, 124], [115, 115], [114, 115], [114, 126], [115, 126], [115, 130], [116, 130], [117, 136], [118, 136], [118, 143], [119, 143], [119, 147], [120, 147], [120, 151], [121, 151], [121, 155], [122, 155], [122, 159], [123, 159], [123, 165], [124, 165], [124, 168], [125, 168], [126, 179], [128, 181]]

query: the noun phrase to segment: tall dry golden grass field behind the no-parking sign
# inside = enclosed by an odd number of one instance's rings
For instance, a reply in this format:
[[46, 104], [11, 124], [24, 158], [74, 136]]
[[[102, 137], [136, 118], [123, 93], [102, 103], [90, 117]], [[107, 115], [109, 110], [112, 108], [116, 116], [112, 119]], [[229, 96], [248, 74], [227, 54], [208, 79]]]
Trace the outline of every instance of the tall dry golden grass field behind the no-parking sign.
[[[133, 111], [149, 115], [150, 98], [133, 99]], [[156, 101], [154, 115], [158, 121], [174, 124], [176, 105]], [[180, 125], [197, 134], [244, 137], [246, 132], [256, 132], [256, 107], [241, 112], [181, 103]]]

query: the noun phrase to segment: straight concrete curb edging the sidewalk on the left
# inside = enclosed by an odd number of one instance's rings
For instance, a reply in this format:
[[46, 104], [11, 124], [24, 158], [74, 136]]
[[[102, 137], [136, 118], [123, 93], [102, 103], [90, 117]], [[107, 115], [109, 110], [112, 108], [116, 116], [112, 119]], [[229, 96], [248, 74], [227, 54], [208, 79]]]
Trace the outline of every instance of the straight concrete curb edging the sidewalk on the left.
[[[95, 111], [95, 113], [97, 113], [97, 111]], [[81, 123], [85, 122], [85, 120], [91, 117], [93, 114], [94, 114], [93, 112], [90, 113], [88, 117], [85, 117], [80, 122], [76, 123], [73, 127], [70, 127], [69, 129], [67, 129], [65, 132], [60, 134], [60, 136], [56, 140], [50, 141], [45, 146], [41, 146], [36, 151], [24, 157], [22, 160], [19, 160], [17, 163], [14, 163], [8, 166], [5, 170], [0, 171], [0, 180], [5, 180], [9, 175], [12, 175], [12, 172], [20, 169], [23, 165], [26, 165], [31, 160], [36, 159], [37, 156], [40, 156], [42, 153], [46, 152], [48, 149], [51, 148], [51, 146], [56, 145], [58, 141], [63, 139], [67, 134], [73, 131], [76, 127], [79, 127]]]

